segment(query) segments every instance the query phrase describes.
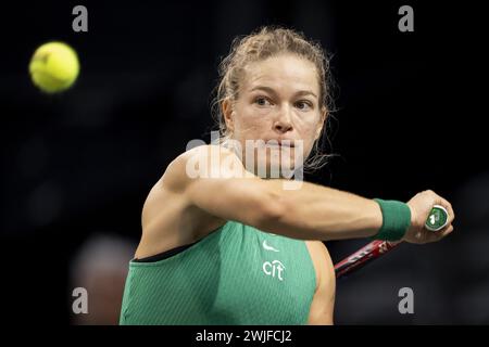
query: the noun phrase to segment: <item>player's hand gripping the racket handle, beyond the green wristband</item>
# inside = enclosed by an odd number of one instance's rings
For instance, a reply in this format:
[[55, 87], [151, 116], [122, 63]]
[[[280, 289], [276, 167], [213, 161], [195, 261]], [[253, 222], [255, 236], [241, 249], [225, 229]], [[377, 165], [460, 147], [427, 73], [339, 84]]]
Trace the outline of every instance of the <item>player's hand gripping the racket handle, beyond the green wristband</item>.
[[[434, 205], [441, 205], [449, 213], [447, 226], [438, 231], [430, 231], [425, 228], [426, 219]], [[455, 214], [453, 213], [452, 205], [443, 197], [437, 195], [434, 191], [417, 193], [408, 202], [408, 206], [411, 208], [411, 227], [408, 229], [402, 241], [417, 244], [436, 242], [453, 231], [452, 222], [455, 218]]]

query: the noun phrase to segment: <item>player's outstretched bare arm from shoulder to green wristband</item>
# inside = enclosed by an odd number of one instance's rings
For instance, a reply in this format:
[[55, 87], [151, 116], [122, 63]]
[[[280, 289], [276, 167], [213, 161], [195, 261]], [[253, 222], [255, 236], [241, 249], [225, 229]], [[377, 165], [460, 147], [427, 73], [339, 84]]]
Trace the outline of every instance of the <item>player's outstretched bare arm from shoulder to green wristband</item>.
[[[211, 146], [198, 147], [195, 152], [188, 152], [188, 156], [212, 157]], [[301, 240], [367, 237], [375, 235], [383, 224], [380, 207], [373, 200], [309, 182], [301, 182], [297, 190], [285, 190], [285, 183], [293, 181], [264, 180], [251, 174], [237, 177], [229, 165], [222, 163], [229, 162], [230, 156], [231, 163], [248, 174], [239, 158], [231, 152], [220, 153], [221, 166], [214, 167], [220, 176], [198, 176], [185, 184], [189, 204], [212, 216]], [[217, 165], [216, 160], [204, 163]], [[183, 167], [187, 166], [188, 163], [184, 163]]]

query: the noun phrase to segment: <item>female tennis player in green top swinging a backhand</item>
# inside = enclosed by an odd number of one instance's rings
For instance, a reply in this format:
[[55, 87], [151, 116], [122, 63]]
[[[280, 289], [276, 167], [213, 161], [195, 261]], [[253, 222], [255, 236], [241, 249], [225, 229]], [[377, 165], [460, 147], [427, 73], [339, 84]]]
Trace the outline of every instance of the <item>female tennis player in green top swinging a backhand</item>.
[[[234, 41], [221, 77], [221, 141], [179, 155], [151, 189], [121, 324], [333, 324], [335, 272], [322, 241], [423, 244], [452, 232], [452, 207], [432, 191], [402, 203], [287, 188], [298, 181], [284, 163], [314, 163], [328, 117], [317, 43], [261, 28]], [[424, 223], [436, 204], [450, 220], [434, 232]]]

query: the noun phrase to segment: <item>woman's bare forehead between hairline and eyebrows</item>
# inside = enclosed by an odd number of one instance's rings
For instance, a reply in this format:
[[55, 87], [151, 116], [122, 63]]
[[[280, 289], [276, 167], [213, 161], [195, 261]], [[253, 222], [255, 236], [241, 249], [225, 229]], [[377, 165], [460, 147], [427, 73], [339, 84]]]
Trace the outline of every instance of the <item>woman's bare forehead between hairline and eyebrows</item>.
[[253, 62], [244, 67], [244, 90], [266, 85], [274, 89], [309, 89], [318, 93], [319, 83], [314, 64], [305, 59], [281, 54]]

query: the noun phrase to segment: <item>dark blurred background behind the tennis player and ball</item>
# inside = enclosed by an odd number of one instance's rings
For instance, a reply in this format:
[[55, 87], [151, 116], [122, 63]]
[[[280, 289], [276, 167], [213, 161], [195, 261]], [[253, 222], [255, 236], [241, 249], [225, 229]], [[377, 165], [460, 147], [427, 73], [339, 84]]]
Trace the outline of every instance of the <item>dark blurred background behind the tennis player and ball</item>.
[[[2, 316], [114, 322], [149, 190], [188, 141], [210, 141], [220, 60], [236, 36], [278, 24], [333, 55], [328, 151], [337, 156], [306, 179], [402, 201], [432, 189], [456, 211], [450, 237], [402, 245], [338, 282], [336, 323], [489, 323], [484, 12], [430, 3], [2, 4]], [[77, 4], [88, 10], [88, 33], [72, 30]], [[414, 9], [414, 33], [398, 30], [403, 4]], [[82, 64], [76, 85], [57, 95], [39, 92], [28, 75], [35, 49], [50, 40], [70, 43]], [[327, 245], [338, 261], [366, 242]], [[77, 286], [88, 290], [88, 314], [72, 313]], [[414, 314], [398, 311], [405, 286]]]

